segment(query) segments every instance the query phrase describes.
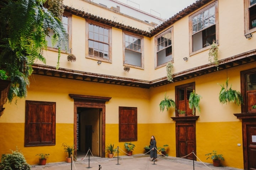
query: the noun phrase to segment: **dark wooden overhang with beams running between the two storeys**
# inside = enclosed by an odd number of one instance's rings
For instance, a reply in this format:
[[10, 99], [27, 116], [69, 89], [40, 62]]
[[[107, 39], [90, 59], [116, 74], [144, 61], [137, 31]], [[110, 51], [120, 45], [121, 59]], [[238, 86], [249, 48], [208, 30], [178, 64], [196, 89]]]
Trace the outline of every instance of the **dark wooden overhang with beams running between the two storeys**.
[[[255, 61], [256, 61], [255, 54], [251, 56], [238, 55], [236, 57], [231, 57], [231, 58], [219, 61], [219, 70], [240, 66], [242, 64], [251, 63]], [[166, 77], [153, 80], [153, 81], [145, 81], [145, 80], [115, 77], [115, 76], [103, 75], [103, 74], [95, 74], [95, 73], [89, 73], [89, 72], [80, 72], [76, 70], [69, 70], [69, 69], [63, 69], [63, 68], [60, 68], [57, 70], [55, 69], [55, 67], [44, 66], [44, 65], [34, 65], [33, 69], [34, 69], [33, 74], [38, 74], [38, 75], [81, 80], [81, 81], [90, 81], [95, 83], [140, 87], [140, 88], [147, 88], [147, 89], [149, 89], [150, 87], [158, 87], [158, 86], [171, 83], [167, 80]], [[182, 81], [185, 79], [190, 79], [200, 75], [217, 72], [217, 71], [218, 71], [217, 67], [213, 63], [210, 63], [202, 67], [196, 67], [196, 68], [192, 68], [192, 69], [174, 74], [173, 82]]]

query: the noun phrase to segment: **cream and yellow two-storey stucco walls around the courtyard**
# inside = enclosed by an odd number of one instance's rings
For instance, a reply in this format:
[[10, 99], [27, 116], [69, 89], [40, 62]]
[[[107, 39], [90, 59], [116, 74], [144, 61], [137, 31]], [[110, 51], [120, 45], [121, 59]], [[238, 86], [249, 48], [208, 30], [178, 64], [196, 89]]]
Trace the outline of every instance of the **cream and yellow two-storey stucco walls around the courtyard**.
[[[135, 107], [137, 108], [137, 141], [132, 141], [136, 146], [133, 154], [144, 153], [144, 147], [149, 145], [150, 137], [154, 135], [157, 146], [168, 144], [168, 155], [176, 157], [178, 155], [176, 149], [177, 122], [191, 123], [191, 120], [173, 119], [172, 117], [177, 117], [177, 111], [171, 108], [168, 112], [160, 112], [159, 103], [163, 100], [165, 93], [169, 98], [175, 100], [177, 95], [175, 87], [194, 83], [196, 93], [202, 96], [201, 112], [196, 111], [196, 116], [199, 117], [193, 120], [197, 157], [203, 162], [211, 163], [211, 160], [206, 160], [205, 154], [215, 150], [223, 154], [225, 158], [222, 165], [246, 169], [245, 166], [248, 165], [244, 164], [243, 147], [245, 143], [242, 119], [234, 115], [242, 113], [241, 107], [243, 106], [237, 106], [234, 103], [222, 105], [219, 103], [218, 96], [221, 89], [219, 84], [224, 84], [227, 78], [229, 78], [229, 84], [232, 84], [233, 89], [244, 91], [241, 85], [244, 83], [241, 81], [241, 71], [252, 69], [252, 73], [255, 72], [253, 69], [255, 69], [256, 63], [256, 38], [246, 39], [245, 34], [255, 34], [256, 28], [249, 30], [245, 28], [246, 9], [244, 4], [247, 3], [246, 0], [234, 0], [233, 3], [225, 0], [199, 0], [196, 3], [185, 8], [184, 11], [188, 12], [181, 11], [182, 17], [174, 16], [154, 28], [149, 23], [120, 12], [114, 12], [90, 1], [64, 0], [65, 11], [73, 12], [69, 20], [69, 47], [76, 56], [76, 61], [68, 62], [66, 60], [68, 54], [63, 52], [60, 58], [60, 70], [65, 72], [65, 77], [62, 77], [61, 73], [58, 73], [57, 76], [48, 74], [47, 70], [54, 71], [57, 52], [51, 49], [44, 51], [47, 66], [40, 62], [35, 64], [36, 71], [31, 76], [27, 97], [18, 99], [17, 104], [5, 104], [5, 112], [0, 118], [0, 136], [2, 138], [0, 154], [10, 153], [10, 149], [14, 150], [17, 146], [30, 164], [38, 164], [38, 157], [35, 155], [42, 152], [50, 154], [47, 158], [48, 163], [64, 161], [66, 153], [62, 143], [76, 143], [77, 125], [75, 122], [78, 113], [82, 115], [80, 117], [83, 122], [81, 127], [92, 125], [92, 153], [94, 155], [105, 156], [103, 150], [110, 143], [125, 150], [124, 142], [119, 142], [118, 109], [119, 107]], [[219, 47], [218, 60], [220, 61], [218, 71], [214, 64], [208, 61], [209, 47], [191, 51], [193, 40], [191, 40], [189, 21], [197, 12], [212, 4], [216, 7], [215, 30]], [[78, 13], [84, 11], [85, 17], [77, 15], [76, 9]], [[95, 21], [92, 15], [97, 16]], [[113, 16], [117, 18], [114, 23], [110, 21]], [[104, 23], [103, 20], [107, 20], [107, 22]], [[111, 60], [88, 57], [88, 24], [90, 23], [110, 29]], [[152, 32], [148, 30], [149, 27], [150, 30], [153, 30]], [[177, 78], [174, 83], [166, 81], [166, 63], [160, 66], [156, 65], [156, 37], [169, 29], [172, 32], [173, 75], [174, 79]], [[141, 48], [143, 67], [133, 67], [128, 64], [130, 66], [129, 73], [123, 70], [123, 67], [127, 65], [124, 64], [124, 34], [133, 35], [143, 40]], [[184, 57], [187, 57], [188, 61], [184, 61]], [[102, 63], [97, 64], [98, 60]], [[241, 62], [241, 60], [243, 61]], [[211, 69], [212, 71], [210, 71]], [[199, 74], [200, 71], [203, 73]], [[74, 78], [73, 74], [76, 74], [77, 77]], [[87, 79], [83, 75], [91, 77]], [[99, 78], [102, 80], [98, 80]], [[113, 84], [109, 83], [111, 80], [104, 81], [104, 78], [138, 82], [151, 86], [141, 88], [129, 85], [129, 83]], [[154, 83], [157, 85], [154, 86]], [[105, 106], [90, 107], [86, 104], [86, 99], [74, 98], [70, 94], [109, 97], [110, 100], [105, 102]], [[76, 100], [78, 100], [78, 104], [75, 104]], [[79, 103], [80, 100], [85, 100], [84, 104]], [[26, 101], [56, 103], [55, 145], [24, 146]], [[248, 119], [255, 122], [255, 115], [249, 116]], [[82, 129], [80, 129], [80, 134], [84, 133]], [[81, 138], [85, 138], [85, 136], [81, 135]], [[82, 145], [80, 149], [85, 150], [84, 147]]]

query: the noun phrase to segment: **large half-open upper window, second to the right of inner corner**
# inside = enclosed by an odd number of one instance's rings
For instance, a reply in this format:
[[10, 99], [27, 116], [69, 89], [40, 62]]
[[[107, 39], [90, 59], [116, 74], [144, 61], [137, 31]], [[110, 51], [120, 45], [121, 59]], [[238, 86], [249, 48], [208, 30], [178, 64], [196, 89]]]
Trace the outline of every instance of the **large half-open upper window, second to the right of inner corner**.
[[202, 51], [213, 40], [218, 44], [217, 3], [218, 1], [190, 16], [190, 53]]

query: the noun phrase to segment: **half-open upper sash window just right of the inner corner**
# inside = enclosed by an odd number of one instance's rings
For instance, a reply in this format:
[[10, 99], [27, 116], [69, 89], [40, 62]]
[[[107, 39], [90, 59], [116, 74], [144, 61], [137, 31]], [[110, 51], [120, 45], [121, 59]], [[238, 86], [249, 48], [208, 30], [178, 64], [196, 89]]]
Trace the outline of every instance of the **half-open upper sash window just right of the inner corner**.
[[155, 37], [156, 67], [173, 61], [172, 57], [172, 28]]

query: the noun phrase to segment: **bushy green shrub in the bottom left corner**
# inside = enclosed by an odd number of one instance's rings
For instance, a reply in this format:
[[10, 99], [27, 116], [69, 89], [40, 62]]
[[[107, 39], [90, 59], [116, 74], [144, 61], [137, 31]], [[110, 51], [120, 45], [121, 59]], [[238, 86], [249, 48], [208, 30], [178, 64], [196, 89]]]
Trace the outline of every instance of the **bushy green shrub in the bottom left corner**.
[[2, 154], [1, 170], [30, 170], [31, 166], [27, 163], [23, 153], [16, 147], [16, 151], [9, 154]]

